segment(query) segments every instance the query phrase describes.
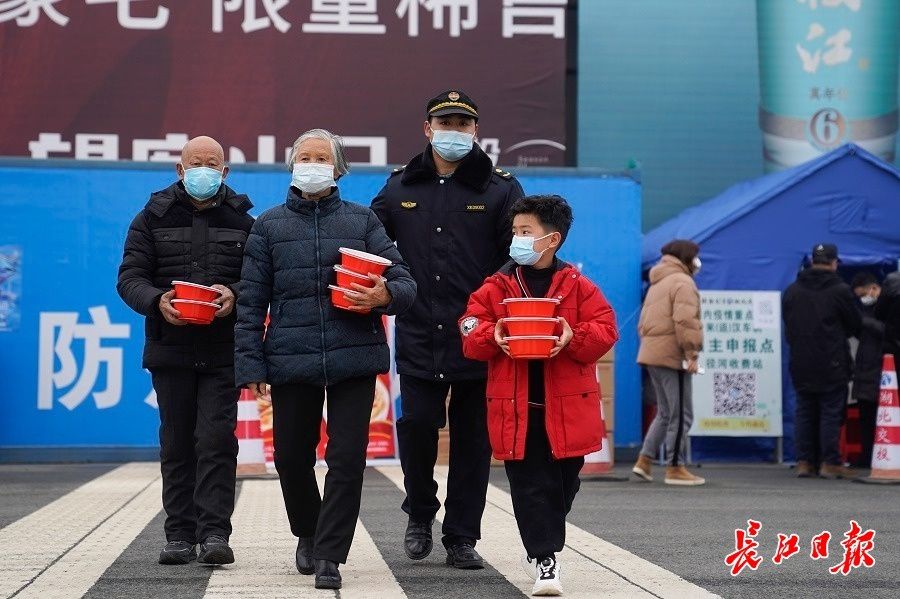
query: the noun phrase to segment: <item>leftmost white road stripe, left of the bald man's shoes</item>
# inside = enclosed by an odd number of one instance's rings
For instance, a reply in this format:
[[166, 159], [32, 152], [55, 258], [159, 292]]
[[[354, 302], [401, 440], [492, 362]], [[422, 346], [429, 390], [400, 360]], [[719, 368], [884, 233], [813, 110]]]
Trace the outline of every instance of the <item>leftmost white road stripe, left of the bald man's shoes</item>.
[[159, 512], [159, 478], [125, 464], [0, 529], [0, 597], [83, 595]]

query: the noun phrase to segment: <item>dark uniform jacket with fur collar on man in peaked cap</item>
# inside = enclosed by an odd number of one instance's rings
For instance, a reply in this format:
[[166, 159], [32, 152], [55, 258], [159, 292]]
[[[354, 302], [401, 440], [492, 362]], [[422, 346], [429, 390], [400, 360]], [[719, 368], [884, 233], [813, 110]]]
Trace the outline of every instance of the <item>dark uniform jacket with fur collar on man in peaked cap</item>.
[[487, 376], [483, 362], [463, 356], [456, 322], [469, 295], [509, 260], [509, 209], [523, 195], [477, 145], [451, 176], [438, 176], [429, 144], [372, 201], [418, 285], [412, 308], [397, 317], [400, 374], [433, 381]]

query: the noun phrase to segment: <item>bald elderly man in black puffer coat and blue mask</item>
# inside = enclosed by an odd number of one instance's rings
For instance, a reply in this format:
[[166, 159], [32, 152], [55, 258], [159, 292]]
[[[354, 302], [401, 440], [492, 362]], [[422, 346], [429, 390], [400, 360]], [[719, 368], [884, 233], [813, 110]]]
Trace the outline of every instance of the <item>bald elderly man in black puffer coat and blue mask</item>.
[[[152, 194], [132, 221], [117, 289], [146, 317], [143, 366], [159, 404], [167, 516], [159, 563], [225, 564], [234, 561], [228, 537], [238, 449], [234, 302], [253, 205], [223, 182], [225, 155], [210, 137], [190, 140], [176, 171], [179, 180]], [[219, 291], [212, 324], [180, 320], [173, 280]]]

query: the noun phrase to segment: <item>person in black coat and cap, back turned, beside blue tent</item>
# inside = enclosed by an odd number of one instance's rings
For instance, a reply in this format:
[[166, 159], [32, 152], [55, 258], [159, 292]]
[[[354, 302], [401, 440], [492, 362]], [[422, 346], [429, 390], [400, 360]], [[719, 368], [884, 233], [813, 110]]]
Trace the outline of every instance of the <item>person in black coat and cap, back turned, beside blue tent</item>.
[[852, 359], [848, 339], [859, 335], [862, 315], [850, 286], [837, 275], [837, 247], [818, 244], [812, 266], [784, 292], [782, 316], [797, 390], [797, 475], [846, 478], [838, 448]]

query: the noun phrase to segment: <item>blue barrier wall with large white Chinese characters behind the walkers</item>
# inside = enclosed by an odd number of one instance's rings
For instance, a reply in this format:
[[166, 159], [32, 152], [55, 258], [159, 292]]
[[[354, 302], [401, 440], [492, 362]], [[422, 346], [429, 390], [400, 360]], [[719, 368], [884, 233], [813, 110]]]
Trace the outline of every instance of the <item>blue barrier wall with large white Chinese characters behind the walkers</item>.
[[[356, 169], [342, 195], [368, 204], [384, 169]], [[522, 171], [528, 193], [559, 193], [575, 226], [561, 256], [600, 284], [623, 326], [617, 347], [616, 442], [640, 441], [635, 320], [639, 307], [640, 186], [577, 170]], [[140, 368], [143, 318], [116, 294], [128, 224], [151, 191], [175, 179], [171, 165], [0, 162], [0, 419], [12, 448], [152, 448], [158, 418]], [[284, 170], [240, 166], [228, 183], [253, 214], [283, 201]], [[65, 455], [65, 454], [57, 454]], [[81, 454], [72, 454], [73, 456]], [[115, 455], [113, 452], [103, 455]]]

